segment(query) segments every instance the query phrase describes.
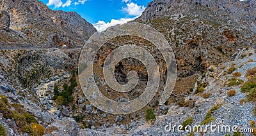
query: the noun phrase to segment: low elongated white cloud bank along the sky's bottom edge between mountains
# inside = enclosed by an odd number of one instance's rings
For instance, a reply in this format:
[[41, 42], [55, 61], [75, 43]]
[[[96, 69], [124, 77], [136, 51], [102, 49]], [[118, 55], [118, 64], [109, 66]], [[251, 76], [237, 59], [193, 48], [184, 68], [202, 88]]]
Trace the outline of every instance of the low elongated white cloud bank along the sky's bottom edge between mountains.
[[136, 17], [134, 18], [120, 18], [118, 20], [112, 19], [110, 22], [104, 22], [104, 21], [99, 21], [96, 24], [93, 24], [93, 26], [95, 27], [95, 29], [97, 29], [97, 31], [104, 31], [106, 30], [108, 27], [117, 25], [117, 24], [125, 24], [126, 22], [132, 21], [134, 20]]

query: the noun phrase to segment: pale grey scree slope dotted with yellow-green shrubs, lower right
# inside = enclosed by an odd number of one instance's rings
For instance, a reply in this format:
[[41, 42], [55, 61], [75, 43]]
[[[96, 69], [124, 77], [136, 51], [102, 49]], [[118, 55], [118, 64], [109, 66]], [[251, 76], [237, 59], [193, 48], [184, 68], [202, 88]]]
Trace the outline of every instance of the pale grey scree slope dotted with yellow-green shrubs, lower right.
[[[139, 128], [136, 135], [256, 135], [256, 52], [239, 51], [234, 61], [212, 65], [198, 78], [193, 94], [186, 97], [186, 106], [170, 106], [168, 113], [159, 116], [154, 125]], [[216, 123], [218, 119], [218, 123]], [[176, 125], [234, 125], [237, 132], [184, 131], [166, 132], [169, 123]], [[241, 132], [247, 129], [247, 132]], [[248, 129], [252, 129], [249, 132]], [[168, 128], [167, 128], [168, 130]]]

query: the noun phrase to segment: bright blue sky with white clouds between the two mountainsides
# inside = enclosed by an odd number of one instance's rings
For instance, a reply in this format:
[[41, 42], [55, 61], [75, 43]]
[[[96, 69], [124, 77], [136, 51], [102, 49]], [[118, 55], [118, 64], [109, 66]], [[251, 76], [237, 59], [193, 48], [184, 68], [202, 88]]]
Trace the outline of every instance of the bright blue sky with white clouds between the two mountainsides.
[[39, 0], [52, 10], [76, 11], [97, 30], [139, 17], [152, 0]]

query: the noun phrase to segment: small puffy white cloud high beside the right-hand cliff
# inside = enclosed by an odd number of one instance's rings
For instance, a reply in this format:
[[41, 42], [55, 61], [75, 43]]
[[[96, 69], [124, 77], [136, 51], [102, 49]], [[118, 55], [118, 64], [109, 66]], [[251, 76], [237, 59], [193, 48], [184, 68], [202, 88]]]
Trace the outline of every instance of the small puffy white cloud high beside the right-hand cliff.
[[145, 10], [145, 6], [138, 6], [136, 3], [127, 3], [126, 6], [127, 7], [123, 7], [122, 9], [131, 16], [140, 16]]

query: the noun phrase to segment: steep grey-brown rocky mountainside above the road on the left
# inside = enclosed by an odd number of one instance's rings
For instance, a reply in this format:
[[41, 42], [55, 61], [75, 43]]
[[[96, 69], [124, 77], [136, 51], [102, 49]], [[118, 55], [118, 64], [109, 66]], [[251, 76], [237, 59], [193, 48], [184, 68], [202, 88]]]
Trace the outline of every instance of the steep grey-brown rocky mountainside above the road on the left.
[[81, 46], [96, 32], [76, 12], [52, 11], [37, 0], [3, 0], [0, 11], [2, 46]]

